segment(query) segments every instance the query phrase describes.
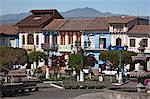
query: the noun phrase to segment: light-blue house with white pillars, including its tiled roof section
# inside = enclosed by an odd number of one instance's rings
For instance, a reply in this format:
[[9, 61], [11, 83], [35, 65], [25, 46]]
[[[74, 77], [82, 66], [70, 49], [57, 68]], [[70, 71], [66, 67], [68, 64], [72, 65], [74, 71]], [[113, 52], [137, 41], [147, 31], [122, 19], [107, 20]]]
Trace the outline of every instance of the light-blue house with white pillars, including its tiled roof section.
[[103, 62], [99, 55], [103, 50], [107, 50], [110, 46], [109, 23], [110, 17], [95, 18], [84, 32], [85, 52], [87, 55], [93, 54], [97, 60], [95, 68], [99, 68]]

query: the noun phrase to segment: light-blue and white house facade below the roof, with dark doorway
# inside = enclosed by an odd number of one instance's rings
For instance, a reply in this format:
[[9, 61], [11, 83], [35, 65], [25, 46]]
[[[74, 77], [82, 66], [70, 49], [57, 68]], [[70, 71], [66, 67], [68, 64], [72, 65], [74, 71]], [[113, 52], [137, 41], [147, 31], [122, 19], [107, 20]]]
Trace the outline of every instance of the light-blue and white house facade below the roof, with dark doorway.
[[84, 33], [84, 41], [87, 42], [85, 44], [85, 52], [87, 55], [94, 55], [97, 63], [95, 64], [95, 68], [99, 68], [103, 62], [100, 60], [99, 55], [103, 50], [107, 50], [110, 45], [110, 33], [109, 32], [85, 32]]

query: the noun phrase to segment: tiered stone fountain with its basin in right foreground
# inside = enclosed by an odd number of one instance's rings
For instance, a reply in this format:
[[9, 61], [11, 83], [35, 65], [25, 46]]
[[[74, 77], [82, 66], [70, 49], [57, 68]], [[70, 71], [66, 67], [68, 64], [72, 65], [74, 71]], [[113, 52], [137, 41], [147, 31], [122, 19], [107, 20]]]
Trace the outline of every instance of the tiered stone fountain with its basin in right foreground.
[[[105, 99], [150, 99], [150, 93], [146, 92], [146, 86], [144, 85], [144, 79], [150, 78], [150, 72], [146, 72], [147, 57], [144, 54], [144, 41], [141, 40], [139, 45], [138, 55], [132, 56], [132, 62], [140, 64], [138, 70], [130, 72], [130, 77], [131, 79], [133, 78], [133, 81], [130, 80], [130, 82], [121, 86], [111, 86], [104, 90]], [[135, 68], [134, 65], [132, 65], [132, 69], [133, 67]]]

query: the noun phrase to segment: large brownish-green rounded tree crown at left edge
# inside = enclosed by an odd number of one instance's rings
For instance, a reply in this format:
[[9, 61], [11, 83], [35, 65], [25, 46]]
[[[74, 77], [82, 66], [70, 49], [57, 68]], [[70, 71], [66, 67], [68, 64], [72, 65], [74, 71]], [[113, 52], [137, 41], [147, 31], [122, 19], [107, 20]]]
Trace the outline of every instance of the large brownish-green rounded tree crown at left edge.
[[27, 51], [21, 48], [0, 46], [0, 68], [11, 69], [12, 65], [24, 65], [27, 62]]

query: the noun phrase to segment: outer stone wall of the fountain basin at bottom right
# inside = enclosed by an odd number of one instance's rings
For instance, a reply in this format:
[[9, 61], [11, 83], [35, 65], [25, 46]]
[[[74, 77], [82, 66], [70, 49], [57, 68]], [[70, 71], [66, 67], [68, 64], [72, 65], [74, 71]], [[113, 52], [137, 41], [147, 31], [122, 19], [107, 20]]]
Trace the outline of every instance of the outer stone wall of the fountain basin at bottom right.
[[138, 92], [122, 92], [115, 90], [104, 90], [106, 99], [150, 99], [150, 94], [148, 93], [138, 93]]

